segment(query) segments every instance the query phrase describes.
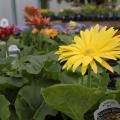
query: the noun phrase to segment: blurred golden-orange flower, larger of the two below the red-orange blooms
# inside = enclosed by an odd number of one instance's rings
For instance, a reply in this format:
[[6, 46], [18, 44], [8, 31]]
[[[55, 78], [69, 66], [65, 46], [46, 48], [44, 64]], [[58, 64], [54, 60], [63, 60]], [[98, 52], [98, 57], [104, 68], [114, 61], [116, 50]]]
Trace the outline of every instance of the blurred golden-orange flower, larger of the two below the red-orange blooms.
[[58, 34], [56, 29], [49, 29], [49, 28], [43, 29], [41, 30], [41, 32], [45, 35], [50, 36], [51, 38], [55, 38]]

